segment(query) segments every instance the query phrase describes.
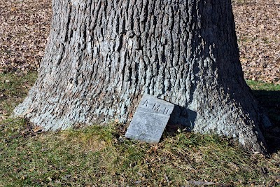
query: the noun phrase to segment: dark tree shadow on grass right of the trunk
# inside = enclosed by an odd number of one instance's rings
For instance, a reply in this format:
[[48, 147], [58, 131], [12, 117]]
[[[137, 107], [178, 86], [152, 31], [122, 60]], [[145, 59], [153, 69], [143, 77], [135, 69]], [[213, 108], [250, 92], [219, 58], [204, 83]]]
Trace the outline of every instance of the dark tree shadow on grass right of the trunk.
[[264, 135], [269, 153], [275, 153], [280, 150], [280, 91], [253, 90], [253, 95], [274, 124], [265, 130]]

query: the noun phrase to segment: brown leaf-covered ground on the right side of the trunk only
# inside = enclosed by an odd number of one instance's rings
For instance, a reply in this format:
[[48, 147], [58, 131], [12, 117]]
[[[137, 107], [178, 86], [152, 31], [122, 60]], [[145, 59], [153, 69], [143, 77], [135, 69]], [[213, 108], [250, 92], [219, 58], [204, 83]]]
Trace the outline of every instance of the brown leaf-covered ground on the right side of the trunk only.
[[244, 77], [280, 84], [280, 1], [234, 2], [233, 11]]

